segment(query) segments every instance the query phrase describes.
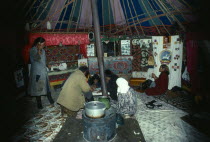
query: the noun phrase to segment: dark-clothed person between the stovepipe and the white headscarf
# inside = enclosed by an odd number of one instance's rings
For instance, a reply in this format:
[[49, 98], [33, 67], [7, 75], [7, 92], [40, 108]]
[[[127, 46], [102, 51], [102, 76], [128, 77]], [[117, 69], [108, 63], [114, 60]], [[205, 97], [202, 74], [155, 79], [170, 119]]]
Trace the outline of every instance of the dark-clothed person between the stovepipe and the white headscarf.
[[111, 79], [107, 83], [107, 91], [110, 93], [110, 97], [113, 100], [116, 100], [116, 101], [117, 101], [117, 83], [116, 83], [116, 80], [118, 78], [119, 77], [116, 74], [112, 74]]

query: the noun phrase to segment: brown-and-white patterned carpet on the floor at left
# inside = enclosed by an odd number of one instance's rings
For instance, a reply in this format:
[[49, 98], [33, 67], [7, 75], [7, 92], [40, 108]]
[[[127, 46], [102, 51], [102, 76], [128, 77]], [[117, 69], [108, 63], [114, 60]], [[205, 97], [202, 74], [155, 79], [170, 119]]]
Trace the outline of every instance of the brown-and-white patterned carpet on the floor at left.
[[28, 120], [14, 135], [13, 142], [50, 142], [64, 124], [66, 117], [61, 116], [60, 106], [47, 106]]

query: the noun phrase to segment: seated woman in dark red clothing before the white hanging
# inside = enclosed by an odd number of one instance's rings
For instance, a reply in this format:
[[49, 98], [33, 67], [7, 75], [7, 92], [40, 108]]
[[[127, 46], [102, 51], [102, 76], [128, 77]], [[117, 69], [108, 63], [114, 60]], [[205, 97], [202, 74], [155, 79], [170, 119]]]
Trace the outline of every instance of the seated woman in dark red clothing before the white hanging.
[[159, 68], [159, 72], [161, 72], [159, 77], [152, 73], [152, 78], [154, 78], [155, 81], [151, 83], [150, 88], [145, 90], [148, 96], [161, 95], [168, 90], [168, 66], [162, 64]]

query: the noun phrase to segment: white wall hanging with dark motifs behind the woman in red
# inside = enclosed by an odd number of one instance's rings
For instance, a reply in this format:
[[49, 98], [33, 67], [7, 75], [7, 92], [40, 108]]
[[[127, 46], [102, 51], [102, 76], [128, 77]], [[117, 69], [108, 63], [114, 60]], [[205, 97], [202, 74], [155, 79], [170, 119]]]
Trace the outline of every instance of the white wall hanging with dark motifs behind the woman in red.
[[159, 68], [161, 64], [166, 64], [169, 67], [169, 85], [168, 89], [174, 86], [181, 87], [181, 67], [183, 57], [183, 42], [178, 35], [168, 37], [170, 43], [164, 45], [163, 36], [153, 36], [153, 56], [155, 60], [154, 74], [159, 76]]

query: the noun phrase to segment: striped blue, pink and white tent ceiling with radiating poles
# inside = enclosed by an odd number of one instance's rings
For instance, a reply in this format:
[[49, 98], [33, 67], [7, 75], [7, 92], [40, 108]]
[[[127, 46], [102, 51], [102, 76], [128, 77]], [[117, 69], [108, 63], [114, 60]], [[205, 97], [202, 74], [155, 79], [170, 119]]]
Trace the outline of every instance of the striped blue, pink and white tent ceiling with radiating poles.
[[[170, 34], [195, 20], [189, 0], [96, 0], [102, 34]], [[28, 0], [25, 17], [31, 31], [93, 31], [91, 0]], [[47, 21], [52, 29], [47, 29]]]

